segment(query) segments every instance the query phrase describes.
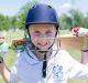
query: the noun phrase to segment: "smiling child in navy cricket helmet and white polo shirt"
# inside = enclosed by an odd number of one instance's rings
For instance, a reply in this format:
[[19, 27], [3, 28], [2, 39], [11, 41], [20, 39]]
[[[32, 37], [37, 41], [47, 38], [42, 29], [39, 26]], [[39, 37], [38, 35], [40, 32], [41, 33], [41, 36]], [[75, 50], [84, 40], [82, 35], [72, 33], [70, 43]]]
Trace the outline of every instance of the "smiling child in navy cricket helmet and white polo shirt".
[[0, 72], [7, 83], [66, 83], [69, 77], [88, 79], [88, 66], [58, 49], [56, 11], [46, 4], [36, 4], [28, 13], [25, 32], [29, 40], [10, 72], [0, 63]]

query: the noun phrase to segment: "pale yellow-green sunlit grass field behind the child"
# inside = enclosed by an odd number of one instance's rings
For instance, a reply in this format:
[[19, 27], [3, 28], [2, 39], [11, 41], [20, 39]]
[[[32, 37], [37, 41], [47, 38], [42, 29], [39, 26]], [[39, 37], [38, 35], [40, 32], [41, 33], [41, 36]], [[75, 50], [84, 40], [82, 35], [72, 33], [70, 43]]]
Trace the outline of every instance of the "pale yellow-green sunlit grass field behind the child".
[[[64, 32], [63, 32], [64, 33]], [[66, 32], [65, 32], [66, 33]], [[23, 31], [9, 31], [7, 32], [7, 42], [10, 43], [14, 38], [22, 38]], [[68, 50], [73, 58], [81, 61], [81, 53], [78, 50]], [[4, 62], [11, 69], [16, 60], [16, 53], [13, 50], [9, 49], [8, 53], [4, 55]], [[3, 79], [0, 75], [0, 83], [4, 83]], [[88, 80], [69, 80], [68, 83], [88, 83]]]

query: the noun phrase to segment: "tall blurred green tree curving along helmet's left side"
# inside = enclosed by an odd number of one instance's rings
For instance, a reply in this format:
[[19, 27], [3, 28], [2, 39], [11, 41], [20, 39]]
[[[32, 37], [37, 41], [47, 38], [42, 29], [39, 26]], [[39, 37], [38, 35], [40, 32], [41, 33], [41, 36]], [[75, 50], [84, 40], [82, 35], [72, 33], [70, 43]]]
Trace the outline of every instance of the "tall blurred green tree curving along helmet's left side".
[[29, 10], [37, 3], [37, 0], [32, 1], [30, 3], [26, 3], [24, 7], [21, 8], [21, 10], [18, 13], [18, 19], [19, 19], [19, 29], [23, 29], [24, 28], [24, 23], [25, 23], [25, 19], [26, 19], [26, 14], [29, 12]]

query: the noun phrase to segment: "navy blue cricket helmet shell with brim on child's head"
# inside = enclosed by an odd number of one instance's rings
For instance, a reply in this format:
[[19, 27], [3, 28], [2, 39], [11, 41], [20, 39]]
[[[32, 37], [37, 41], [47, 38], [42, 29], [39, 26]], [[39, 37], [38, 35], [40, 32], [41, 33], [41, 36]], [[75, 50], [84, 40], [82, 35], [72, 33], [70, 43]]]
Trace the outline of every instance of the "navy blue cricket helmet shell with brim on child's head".
[[35, 4], [30, 9], [25, 19], [25, 28], [30, 24], [54, 24], [56, 30], [59, 27], [55, 9], [46, 4]]

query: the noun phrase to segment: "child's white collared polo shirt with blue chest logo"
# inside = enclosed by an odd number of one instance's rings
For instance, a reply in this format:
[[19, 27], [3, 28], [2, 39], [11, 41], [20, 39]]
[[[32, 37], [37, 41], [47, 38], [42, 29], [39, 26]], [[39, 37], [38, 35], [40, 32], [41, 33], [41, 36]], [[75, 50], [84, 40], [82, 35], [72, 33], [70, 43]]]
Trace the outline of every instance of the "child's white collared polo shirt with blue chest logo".
[[[55, 54], [55, 53], [53, 53]], [[21, 52], [11, 72], [10, 83], [66, 83], [69, 77], [88, 79], [88, 68], [74, 60], [66, 51], [58, 53], [47, 61], [46, 77], [42, 77], [43, 61], [30, 51]]]

